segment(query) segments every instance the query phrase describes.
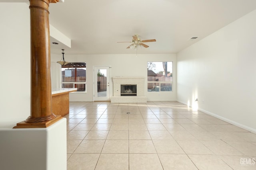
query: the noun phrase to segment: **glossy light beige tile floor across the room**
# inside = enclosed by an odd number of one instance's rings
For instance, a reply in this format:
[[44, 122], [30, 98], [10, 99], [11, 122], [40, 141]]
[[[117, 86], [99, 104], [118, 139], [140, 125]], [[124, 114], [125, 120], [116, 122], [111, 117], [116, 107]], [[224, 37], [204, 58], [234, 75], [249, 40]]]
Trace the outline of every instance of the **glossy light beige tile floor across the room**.
[[68, 170], [256, 170], [256, 134], [178, 102], [70, 102]]

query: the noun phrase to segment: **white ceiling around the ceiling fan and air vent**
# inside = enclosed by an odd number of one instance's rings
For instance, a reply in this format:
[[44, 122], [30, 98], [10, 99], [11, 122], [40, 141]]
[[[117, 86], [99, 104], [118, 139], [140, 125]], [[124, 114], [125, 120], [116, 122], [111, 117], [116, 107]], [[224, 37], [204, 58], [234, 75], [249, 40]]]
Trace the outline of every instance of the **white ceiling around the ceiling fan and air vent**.
[[51, 44], [51, 52], [134, 54], [131, 43], [117, 42], [138, 34], [156, 39], [140, 54], [177, 53], [255, 9], [256, 0], [65, 0], [50, 4], [49, 19], [71, 48]]

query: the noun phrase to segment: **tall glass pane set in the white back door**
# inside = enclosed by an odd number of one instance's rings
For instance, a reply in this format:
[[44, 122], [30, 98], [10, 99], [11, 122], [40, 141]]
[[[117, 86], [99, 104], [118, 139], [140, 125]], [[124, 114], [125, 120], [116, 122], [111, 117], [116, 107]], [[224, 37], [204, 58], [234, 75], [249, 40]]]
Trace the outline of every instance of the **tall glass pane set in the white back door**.
[[97, 97], [107, 96], [107, 70], [97, 70]]

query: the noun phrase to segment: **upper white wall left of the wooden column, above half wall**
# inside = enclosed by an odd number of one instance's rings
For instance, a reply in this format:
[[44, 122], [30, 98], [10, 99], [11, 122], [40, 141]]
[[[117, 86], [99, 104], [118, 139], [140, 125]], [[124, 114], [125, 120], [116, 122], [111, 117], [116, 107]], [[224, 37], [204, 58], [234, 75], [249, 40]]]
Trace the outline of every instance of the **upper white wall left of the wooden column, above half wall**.
[[23, 121], [30, 115], [30, 12], [28, 4], [0, 3], [0, 21], [0, 121], [10, 119]]

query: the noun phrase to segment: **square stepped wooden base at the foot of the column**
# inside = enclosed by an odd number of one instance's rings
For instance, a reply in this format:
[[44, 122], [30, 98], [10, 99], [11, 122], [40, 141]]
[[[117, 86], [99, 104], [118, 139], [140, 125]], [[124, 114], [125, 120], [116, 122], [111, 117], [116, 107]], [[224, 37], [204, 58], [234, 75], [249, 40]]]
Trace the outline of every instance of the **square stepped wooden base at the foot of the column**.
[[13, 127], [13, 129], [18, 129], [18, 128], [46, 128], [49, 127], [50, 125], [54, 124], [55, 122], [59, 121], [62, 119], [61, 115], [56, 115], [54, 119], [51, 119], [49, 121], [42, 121], [38, 123], [27, 123], [25, 121], [17, 123], [16, 126]]

